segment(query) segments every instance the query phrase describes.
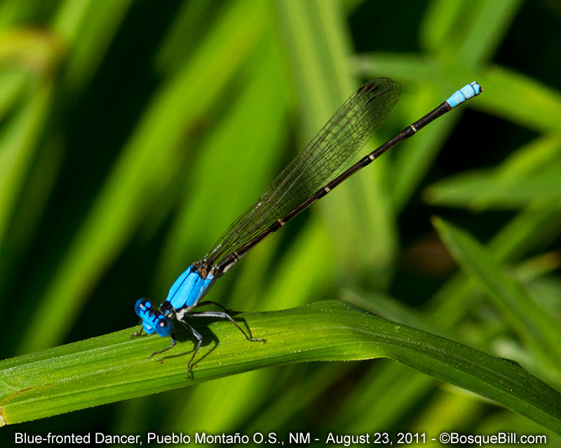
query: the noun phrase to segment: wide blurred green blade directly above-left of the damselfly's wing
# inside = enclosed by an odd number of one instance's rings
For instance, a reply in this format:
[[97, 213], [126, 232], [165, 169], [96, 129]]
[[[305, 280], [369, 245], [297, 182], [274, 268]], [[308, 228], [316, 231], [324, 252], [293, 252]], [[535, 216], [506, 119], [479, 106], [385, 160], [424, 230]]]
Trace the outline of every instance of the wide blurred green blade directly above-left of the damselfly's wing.
[[[174, 221], [161, 250], [160, 288], [169, 287], [180, 274], [178, 269], [210, 250], [277, 175], [288, 138], [287, 83], [279, 73], [278, 48], [270, 40], [259, 43], [259, 63], [248, 67], [248, 78], [238, 95], [223, 111], [222, 120], [205, 135], [196, 158], [189, 161], [190, 175], [180, 172]], [[208, 182], [210, 167], [213, 182]], [[217, 198], [222, 198], [219, 205]], [[161, 208], [158, 212], [165, 217]]]

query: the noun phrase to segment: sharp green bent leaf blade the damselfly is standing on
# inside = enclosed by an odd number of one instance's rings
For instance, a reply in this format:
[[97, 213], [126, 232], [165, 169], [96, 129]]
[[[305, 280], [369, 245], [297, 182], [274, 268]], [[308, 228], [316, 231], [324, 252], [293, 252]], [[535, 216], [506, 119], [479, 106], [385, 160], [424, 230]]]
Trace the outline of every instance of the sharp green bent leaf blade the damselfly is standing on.
[[[187, 379], [192, 344], [148, 359], [168, 339], [133, 329], [0, 362], [0, 419], [11, 424], [166, 391], [290, 362], [393, 358], [478, 393], [561, 432], [561, 394], [515, 362], [421, 332], [339, 301], [268, 313], [244, 313], [254, 337], [226, 322], [197, 326], [205, 344]], [[212, 330], [212, 332], [210, 332]], [[219, 344], [217, 342], [219, 341]], [[158, 362], [158, 360], [162, 362]]]

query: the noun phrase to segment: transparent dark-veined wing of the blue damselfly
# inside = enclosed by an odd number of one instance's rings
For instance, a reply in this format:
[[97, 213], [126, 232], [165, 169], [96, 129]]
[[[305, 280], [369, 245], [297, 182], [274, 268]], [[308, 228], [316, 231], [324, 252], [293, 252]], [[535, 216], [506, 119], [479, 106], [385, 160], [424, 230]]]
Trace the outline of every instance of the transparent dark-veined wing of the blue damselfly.
[[236, 248], [251, 241], [337, 177], [390, 114], [399, 95], [399, 83], [388, 78], [374, 79], [359, 88], [257, 202], [220, 236], [203, 263], [210, 268], [229, 258]]

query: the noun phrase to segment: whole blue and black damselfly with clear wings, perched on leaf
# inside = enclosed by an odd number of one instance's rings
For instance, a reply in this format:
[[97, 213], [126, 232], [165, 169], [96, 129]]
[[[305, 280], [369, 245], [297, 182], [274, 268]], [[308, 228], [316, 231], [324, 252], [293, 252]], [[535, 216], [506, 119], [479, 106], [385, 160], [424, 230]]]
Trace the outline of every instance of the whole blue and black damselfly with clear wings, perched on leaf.
[[[191, 363], [203, 337], [189, 325], [186, 318], [228, 319], [248, 341], [264, 342], [263, 339], [250, 337], [223, 306], [208, 300], [200, 301], [215, 281], [229, 271], [248, 250], [280, 229], [311, 203], [325, 196], [401, 140], [411, 137], [431, 121], [481, 92], [482, 88], [475, 81], [464, 86], [436, 109], [344, 170], [345, 163], [364, 147], [374, 130], [390, 114], [400, 95], [399, 84], [388, 78], [374, 79], [359, 88], [327, 121], [318, 135], [280, 172], [257, 202], [229, 226], [210, 252], [191, 264], [175, 280], [168, 297], [159, 308], [153, 306], [149, 299], [137, 300], [135, 311], [142, 318], [144, 332], [156, 333], [162, 337], [171, 336], [171, 345], [151, 356], [175, 346], [177, 341], [171, 318], [186, 327], [196, 339], [193, 355], [187, 364], [189, 376]], [[193, 311], [197, 306], [210, 304], [219, 306], [223, 311]], [[140, 335], [142, 329], [134, 335]]]

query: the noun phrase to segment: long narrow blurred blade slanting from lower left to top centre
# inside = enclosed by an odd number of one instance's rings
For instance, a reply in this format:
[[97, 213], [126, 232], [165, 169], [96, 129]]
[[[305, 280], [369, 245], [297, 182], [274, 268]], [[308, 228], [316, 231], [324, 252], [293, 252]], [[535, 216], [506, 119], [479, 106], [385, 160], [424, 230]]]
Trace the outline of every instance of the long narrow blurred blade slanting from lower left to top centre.
[[[218, 99], [259, 39], [263, 11], [258, 5], [230, 4], [194, 61], [160, 88], [36, 306], [22, 352], [53, 345], [68, 331], [67, 323], [79, 311], [86, 292], [132, 237], [158, 193], [168, 186], [180, 167], [176, 149], [185, 128]], [[217, 41], [222, 45], [217, 46]]]

